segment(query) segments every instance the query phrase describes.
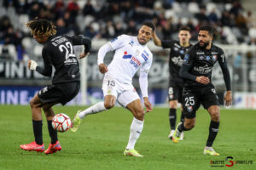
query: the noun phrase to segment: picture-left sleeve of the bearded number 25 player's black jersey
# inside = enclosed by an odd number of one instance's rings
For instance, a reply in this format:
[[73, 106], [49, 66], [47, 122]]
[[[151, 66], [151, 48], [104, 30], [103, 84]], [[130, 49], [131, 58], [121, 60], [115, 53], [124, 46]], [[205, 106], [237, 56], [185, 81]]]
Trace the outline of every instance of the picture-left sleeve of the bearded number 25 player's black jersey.
[[191, 81], [195, 81], [195, 76], [189, 73], [189, 69], [193, 63], [193, 55], [191, 53], [185, 54], [183, 59], [183, 65], [179, 71], [179, 76]]

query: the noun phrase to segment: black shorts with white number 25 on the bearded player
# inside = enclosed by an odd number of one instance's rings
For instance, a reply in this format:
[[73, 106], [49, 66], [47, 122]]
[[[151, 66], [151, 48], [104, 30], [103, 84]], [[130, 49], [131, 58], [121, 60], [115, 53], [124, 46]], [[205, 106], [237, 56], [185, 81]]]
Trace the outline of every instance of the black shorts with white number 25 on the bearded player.
[[201, 104], [205, 109], [211, 105], [219, 105], [218, 95], [213, 86], [183, 89], [183, 113], [186, 118], [195, 118], [195, 112]]

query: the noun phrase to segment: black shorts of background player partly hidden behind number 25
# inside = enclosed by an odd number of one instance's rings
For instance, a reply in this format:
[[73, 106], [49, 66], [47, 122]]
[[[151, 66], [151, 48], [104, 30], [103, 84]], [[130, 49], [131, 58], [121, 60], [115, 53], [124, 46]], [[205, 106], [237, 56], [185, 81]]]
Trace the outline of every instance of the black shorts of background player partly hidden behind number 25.
[[170, 79], [168, 96], [169, 101], [177, 100], [178, 103], [182, 103], [183, 82], [177, 81], [173, 78]]

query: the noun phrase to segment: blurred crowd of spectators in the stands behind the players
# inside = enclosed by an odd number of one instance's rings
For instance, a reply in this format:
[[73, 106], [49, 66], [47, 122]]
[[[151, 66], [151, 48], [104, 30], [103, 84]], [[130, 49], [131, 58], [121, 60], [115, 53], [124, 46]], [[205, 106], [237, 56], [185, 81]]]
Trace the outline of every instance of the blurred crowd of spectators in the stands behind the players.
[[[0, 0], [0, 44], [14, 44], [25, 53], [24, 38], [31, 37], [24, 24], [51, 20], [57, 34], [92, 39], [137, 35], [144, 20], [152, 20], [160, 39], [177, 38], [180, 26], [189, 26], [192, 41], [200, 26], [215, 27], [215, 40], [224, 44], [256, 43], [253, 14], [241, 1], [231, 0]], [[4, 48], [2, 49], [4, 50]], [[19, 51], [20, 50], [20, 51]], [[3, 51], [2, 51], [3, 53]], [[19, 56], [18, 56], [19, 58]]]

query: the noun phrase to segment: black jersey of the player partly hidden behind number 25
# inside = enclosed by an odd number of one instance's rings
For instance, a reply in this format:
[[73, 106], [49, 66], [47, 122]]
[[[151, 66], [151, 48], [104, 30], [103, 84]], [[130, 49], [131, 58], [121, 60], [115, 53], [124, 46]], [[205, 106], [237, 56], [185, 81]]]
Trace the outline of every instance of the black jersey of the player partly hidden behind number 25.
[[180, 79], [180, 81], [182, 81], [182, 78], [179, 77], [179, 70], [181, 65], [183, 65], [184, 54], [192, 45], [190, 44], [189, 47], [184, 48], [179, 44], [177, 40], [162, 41], [161, 43], [163, 48], [171, 48], [169, 58], [170, 76], [172, 76], [172, 78]]

